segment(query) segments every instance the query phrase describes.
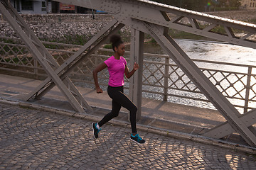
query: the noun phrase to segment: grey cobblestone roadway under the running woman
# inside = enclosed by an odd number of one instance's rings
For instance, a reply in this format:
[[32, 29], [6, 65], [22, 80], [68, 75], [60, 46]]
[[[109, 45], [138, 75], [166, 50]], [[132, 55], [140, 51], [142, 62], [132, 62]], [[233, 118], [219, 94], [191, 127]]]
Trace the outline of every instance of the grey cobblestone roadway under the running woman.
[[255, 169], [255, 155], [0, 103], [0, 169]]

